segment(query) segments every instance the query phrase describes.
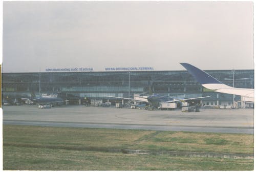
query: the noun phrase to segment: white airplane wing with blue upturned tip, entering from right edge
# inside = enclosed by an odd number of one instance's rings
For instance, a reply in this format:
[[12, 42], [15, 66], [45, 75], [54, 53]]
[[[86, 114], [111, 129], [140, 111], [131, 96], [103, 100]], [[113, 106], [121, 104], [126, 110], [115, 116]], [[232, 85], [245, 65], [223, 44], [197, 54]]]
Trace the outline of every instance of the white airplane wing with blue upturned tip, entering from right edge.
[[213, 90], [218, 93], [240, 95], [244, 97], [244, 101], [254, 102], [254, 89], [230, 87], [193, 65], [188, 63], [180, 64], [206, 89]]

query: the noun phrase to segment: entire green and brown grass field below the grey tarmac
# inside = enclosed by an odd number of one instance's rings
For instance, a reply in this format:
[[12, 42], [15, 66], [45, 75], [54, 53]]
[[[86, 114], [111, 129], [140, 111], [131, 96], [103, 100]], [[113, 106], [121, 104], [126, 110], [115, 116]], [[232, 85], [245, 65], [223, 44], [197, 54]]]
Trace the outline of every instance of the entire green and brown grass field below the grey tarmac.
[[253, 135], [3, 125], [3, 137], [4, 170], [253, 170], [253, 159], [110, 151], [253, 154]]

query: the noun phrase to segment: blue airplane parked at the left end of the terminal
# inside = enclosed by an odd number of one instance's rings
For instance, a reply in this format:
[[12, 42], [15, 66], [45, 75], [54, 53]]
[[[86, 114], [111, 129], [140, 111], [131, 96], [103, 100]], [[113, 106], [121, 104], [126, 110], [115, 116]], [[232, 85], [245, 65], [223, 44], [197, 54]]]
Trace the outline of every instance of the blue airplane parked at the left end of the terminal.
[[61, 105], [64, 102], [68, 102], [69, 100], [63, 100], [60, 98], [58, 95], [49, 95], [49, 94], [42, 94], [41, 97], [35, 97], [32, 95], [32, 98], [22, 98], [24, 101], [32, 101], [35, 102], [38, 105], [46, 105], [46, 104], [51, 104], [51, 105]]

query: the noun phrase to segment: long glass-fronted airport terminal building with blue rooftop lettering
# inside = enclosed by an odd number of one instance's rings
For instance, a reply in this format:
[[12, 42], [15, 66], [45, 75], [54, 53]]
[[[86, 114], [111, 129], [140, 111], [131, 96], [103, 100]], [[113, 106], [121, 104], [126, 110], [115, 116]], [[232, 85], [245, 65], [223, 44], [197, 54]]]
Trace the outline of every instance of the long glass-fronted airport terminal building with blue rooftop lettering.
[[[206, 71], [221, 82], [237, 88], [254, 88], [254, 70]], [[3, 73], [2, 98], [16, 100], [42, 93], [59, 93], [70, 104], [90, 100], [92, 105], [101, 102], [120, 102], [116, 97], [133, 97], [134, 94], [168, 95], [174, 98], [211, 96], [202, 99], [205, 106], [231, 105], [233, 96], [204, 89], [187, 71], [106, 71], [106, 72], [40, 72]], [[233, 79], [234, 78], [234, 79]], [[240, 96], [234, 100], [239, 101]], [[247, 104], [253, 107], [253, 104]]]

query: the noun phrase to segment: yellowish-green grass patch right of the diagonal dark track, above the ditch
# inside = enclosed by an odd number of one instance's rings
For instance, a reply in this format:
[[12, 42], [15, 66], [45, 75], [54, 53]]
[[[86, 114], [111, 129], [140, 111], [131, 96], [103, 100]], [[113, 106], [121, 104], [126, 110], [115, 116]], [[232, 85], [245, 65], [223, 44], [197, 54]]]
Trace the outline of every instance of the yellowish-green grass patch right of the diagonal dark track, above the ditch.
[[132, 147], [192, 152], [253, 153], [253, 135], [159, 132]]

